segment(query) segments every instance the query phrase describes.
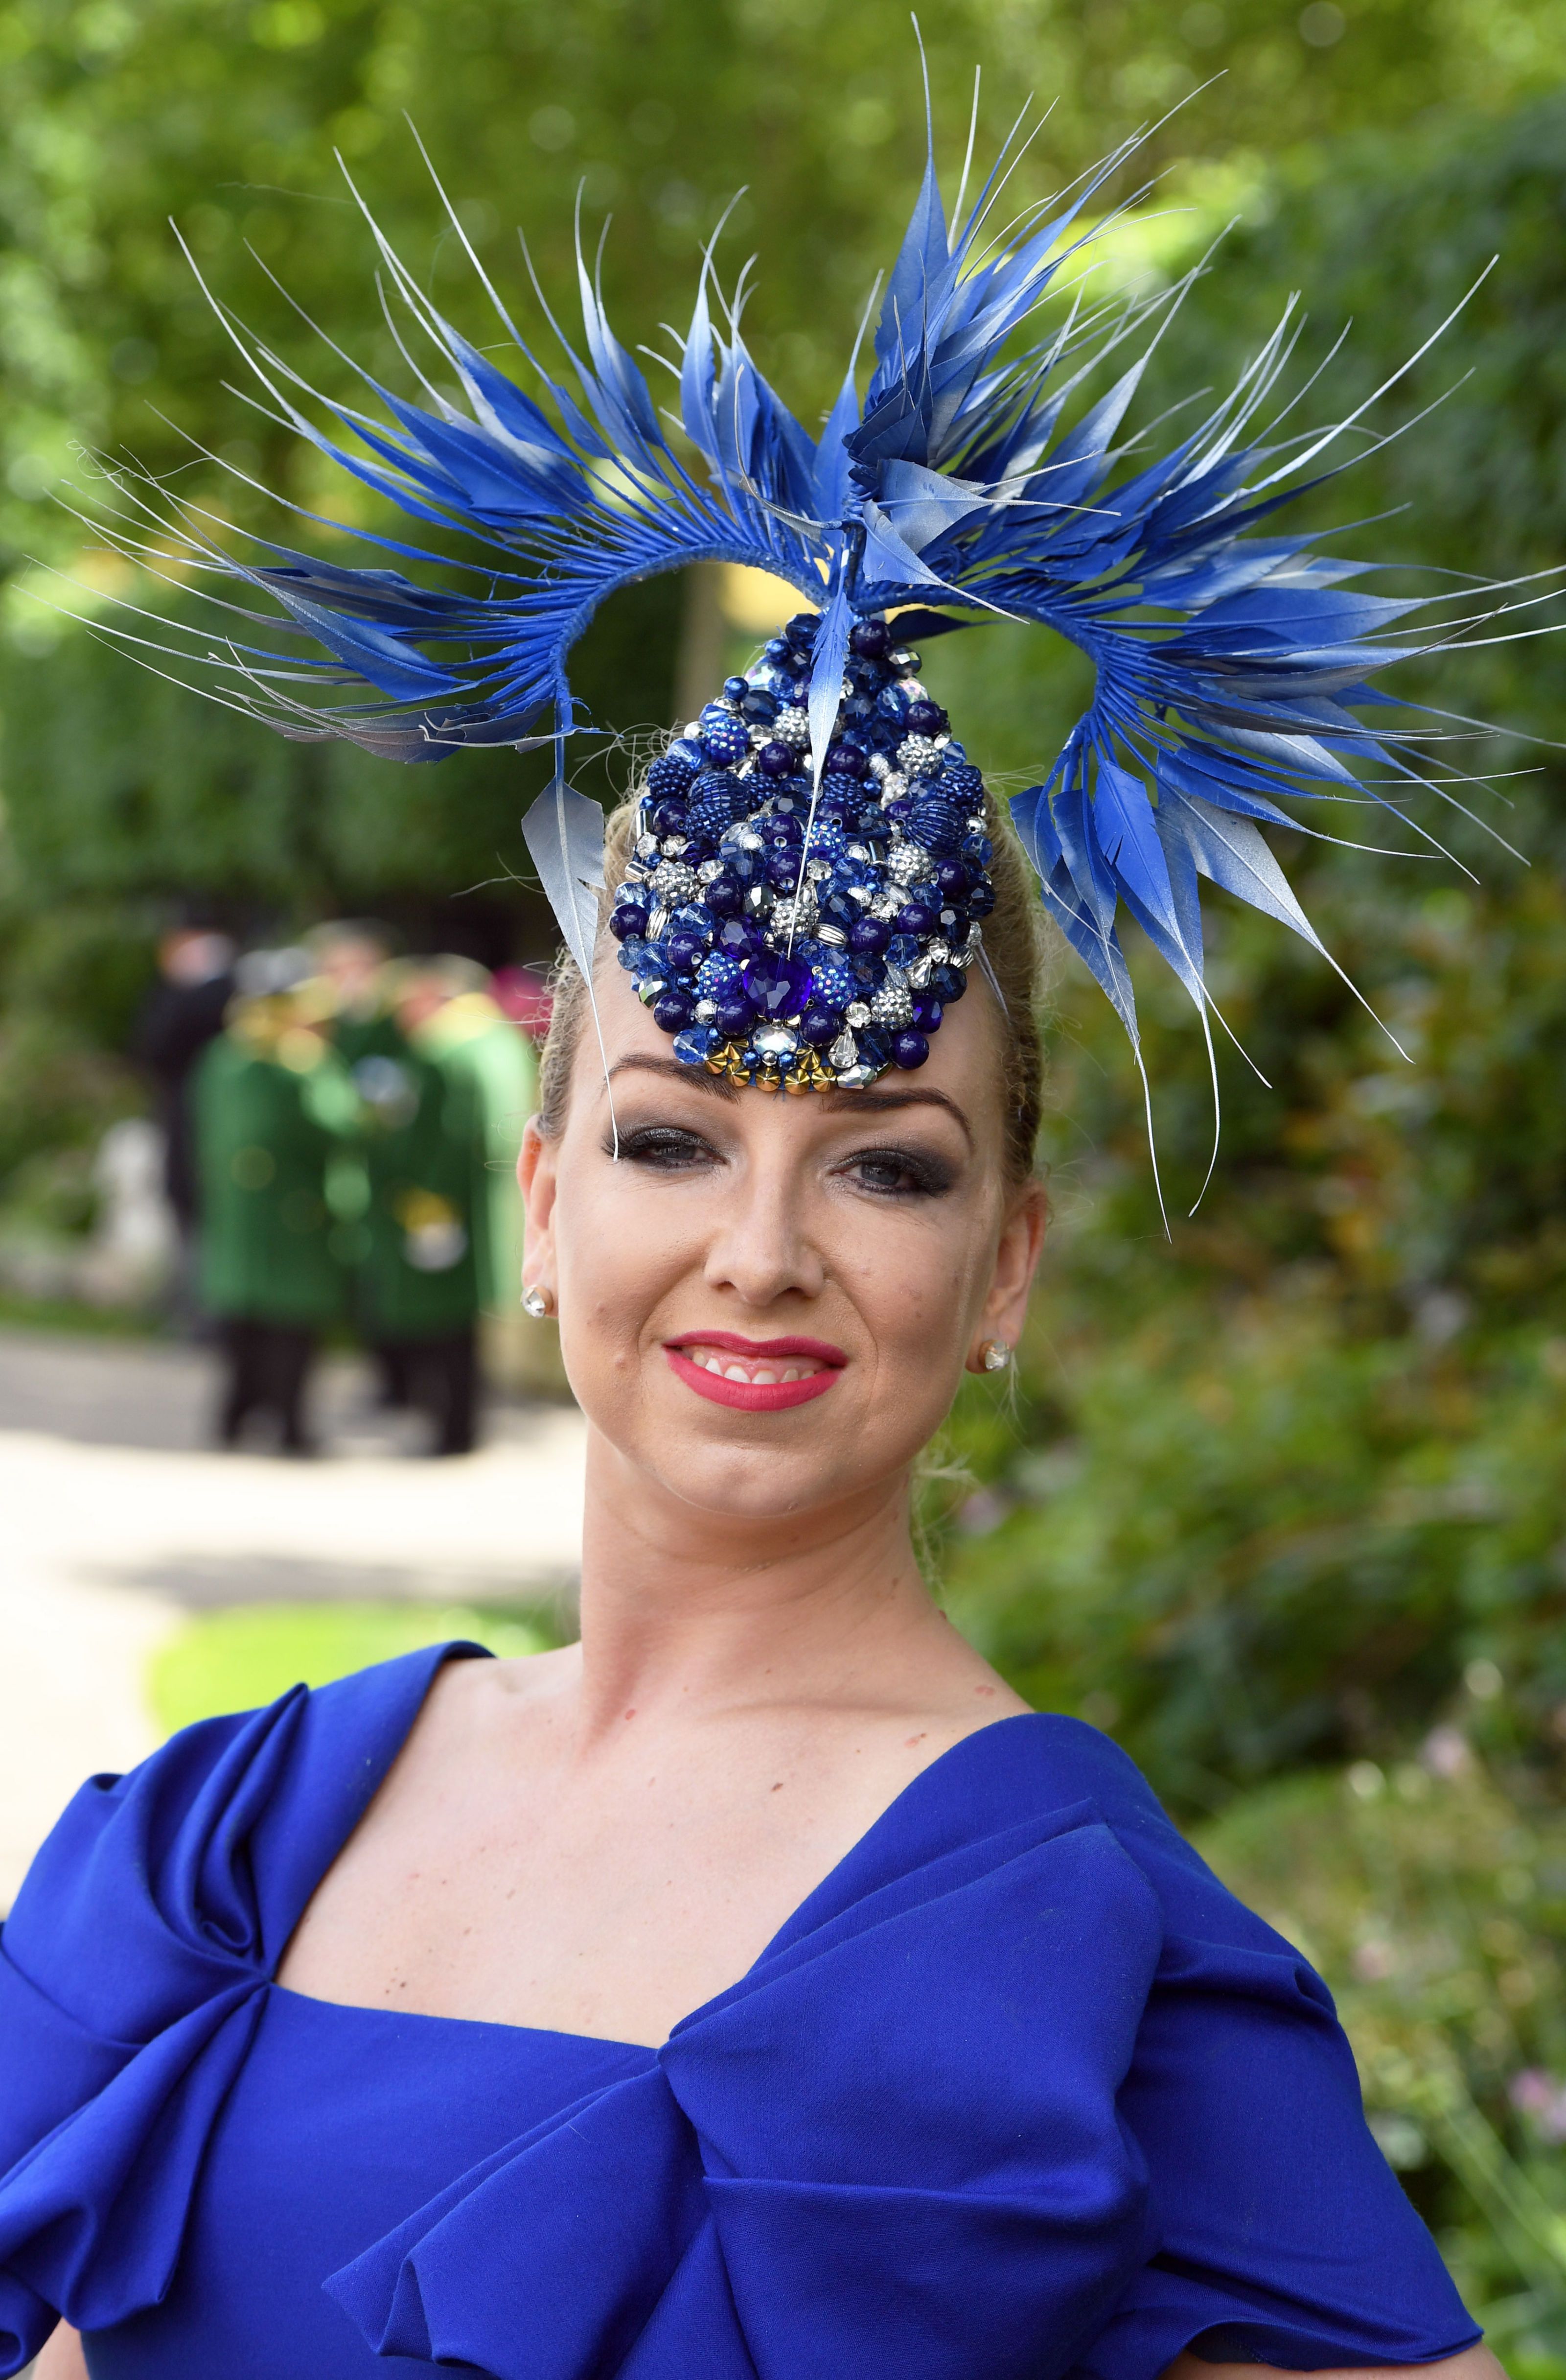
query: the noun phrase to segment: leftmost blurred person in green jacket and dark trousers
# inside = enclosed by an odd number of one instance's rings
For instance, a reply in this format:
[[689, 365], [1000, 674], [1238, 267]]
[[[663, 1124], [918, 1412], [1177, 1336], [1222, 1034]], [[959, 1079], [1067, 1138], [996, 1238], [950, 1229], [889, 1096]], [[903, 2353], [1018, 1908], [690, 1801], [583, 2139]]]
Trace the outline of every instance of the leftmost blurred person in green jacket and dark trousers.
[[347, 1311], [333, 1245], [333, 1157], [355, 1130], [347, 1071], [324, 1031], [305, 952], [240, 962], [224, 1033], [195, 1073], [200, 1297], [226, 1357], [217, 1435], [269, 1416], [288, 1454], [314, 1452], [305, 1397], [321, 1330]]

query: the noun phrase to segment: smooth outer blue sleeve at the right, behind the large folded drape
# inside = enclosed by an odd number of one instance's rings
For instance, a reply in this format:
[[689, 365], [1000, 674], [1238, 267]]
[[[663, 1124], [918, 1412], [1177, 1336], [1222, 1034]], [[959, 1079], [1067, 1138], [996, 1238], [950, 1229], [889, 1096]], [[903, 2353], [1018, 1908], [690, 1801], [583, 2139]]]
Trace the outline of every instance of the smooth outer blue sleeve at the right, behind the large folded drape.
[[1364, 2121], [1354, 2054], [1316, 1971], [1176, 1833], [1135, 1766], [1088, 1728], [1090, 1778], [1164, 1921], [1121, 2113], [1157, 2247], [1080, 2373], [1157, 2380], [1219, 2363], [1430, 2363], [1480, 2330]]

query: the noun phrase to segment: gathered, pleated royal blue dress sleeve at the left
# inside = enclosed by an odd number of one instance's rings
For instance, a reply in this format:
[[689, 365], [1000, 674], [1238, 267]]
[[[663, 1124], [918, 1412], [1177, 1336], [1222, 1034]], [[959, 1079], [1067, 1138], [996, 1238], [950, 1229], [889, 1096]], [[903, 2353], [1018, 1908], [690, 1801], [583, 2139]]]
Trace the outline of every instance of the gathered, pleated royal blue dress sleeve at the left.
[[262, 1987], [447, 1649], [188, 1728], [59, 1818], [0, 1940], [0, 2373], [164, 2297]]

